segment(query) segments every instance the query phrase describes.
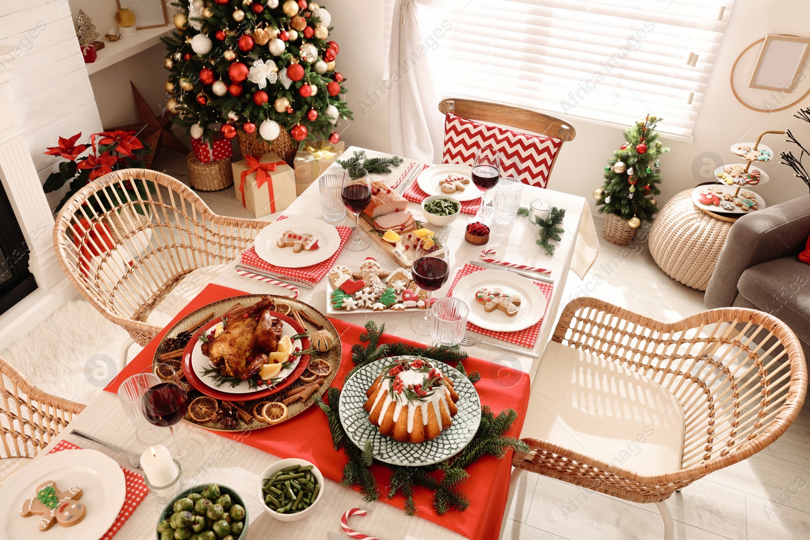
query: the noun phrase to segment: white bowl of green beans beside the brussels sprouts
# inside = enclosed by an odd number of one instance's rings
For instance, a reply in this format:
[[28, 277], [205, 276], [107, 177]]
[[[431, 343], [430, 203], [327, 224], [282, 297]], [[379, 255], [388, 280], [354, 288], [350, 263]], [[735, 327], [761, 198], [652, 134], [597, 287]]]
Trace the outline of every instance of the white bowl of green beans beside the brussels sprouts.
[[303, 519], [323, 495], [323, 475], [305, 459], [276, 461], [262, 473], [258, 498], [262, 508], [279, 521]]

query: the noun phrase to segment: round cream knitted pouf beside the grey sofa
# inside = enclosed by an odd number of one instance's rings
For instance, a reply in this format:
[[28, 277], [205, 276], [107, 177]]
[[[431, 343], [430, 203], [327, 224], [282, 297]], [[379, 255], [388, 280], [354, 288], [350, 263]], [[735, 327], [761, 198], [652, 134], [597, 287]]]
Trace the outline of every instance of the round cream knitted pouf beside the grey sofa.
[[733, 224], [698, 210], [692, 202], [692, 189], [681, 191], [653, 221], [650, 255], [671, 278], [706, 291]]

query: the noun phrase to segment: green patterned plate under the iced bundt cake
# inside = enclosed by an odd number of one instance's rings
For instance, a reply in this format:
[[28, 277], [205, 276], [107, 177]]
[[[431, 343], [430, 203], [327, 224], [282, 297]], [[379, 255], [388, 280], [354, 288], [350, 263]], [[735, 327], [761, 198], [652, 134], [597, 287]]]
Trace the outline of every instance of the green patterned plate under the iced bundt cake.
[[391, 465], [421, 466], [444, 461], [461, 452], [470, 443], [481, 422], [481, 401], [475, 387], [447, 364], [427, 359], [431, 364], [453, 381], [453, 388], [458, 393], [458, 414], [453, 417], [450, 427], [441, 435], [424, 443], [400, 443], [382, 435], [377, 426], [369, 422], [369, 413], [363, 406], [366, 401], [365, 391], [377, 380], [382, 368], [399, 358], [419, 358], [418, 356], [394, 356], [379, 359], [376, 362], [358, 369], [352, 378], [343, 385], [340, 393], [340, 422], [349, 438], [361, 449], [367, 440], [371, 441], [374, 457]]

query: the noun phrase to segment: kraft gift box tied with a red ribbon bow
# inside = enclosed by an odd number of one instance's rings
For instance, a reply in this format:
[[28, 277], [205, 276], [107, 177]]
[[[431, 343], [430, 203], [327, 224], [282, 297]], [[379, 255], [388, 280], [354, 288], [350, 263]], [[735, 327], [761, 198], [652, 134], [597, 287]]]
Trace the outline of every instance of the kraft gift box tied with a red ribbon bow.
[[278, 155], [249, 155], [231, 167], [237, 199], [255, 217], [284, 210], [296, 200], [295, 172]]

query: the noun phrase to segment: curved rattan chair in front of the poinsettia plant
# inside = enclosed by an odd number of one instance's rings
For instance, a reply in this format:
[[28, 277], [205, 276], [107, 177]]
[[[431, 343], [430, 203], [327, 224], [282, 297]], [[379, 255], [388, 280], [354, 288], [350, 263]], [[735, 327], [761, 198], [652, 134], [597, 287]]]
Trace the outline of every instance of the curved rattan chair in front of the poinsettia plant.
[[[139, 195], [134, 179], [155, 193]], [[100, 238], [99, 223], [114, 240]], [[145, 346], [161, 328], [144, 321], [181, 279], [233, 261], [268, 224], [216, 215], [181, 181], [130, 168], [79, 189], [56, 216], [53, 245], [81, 295]]]

